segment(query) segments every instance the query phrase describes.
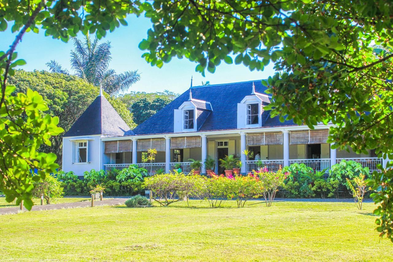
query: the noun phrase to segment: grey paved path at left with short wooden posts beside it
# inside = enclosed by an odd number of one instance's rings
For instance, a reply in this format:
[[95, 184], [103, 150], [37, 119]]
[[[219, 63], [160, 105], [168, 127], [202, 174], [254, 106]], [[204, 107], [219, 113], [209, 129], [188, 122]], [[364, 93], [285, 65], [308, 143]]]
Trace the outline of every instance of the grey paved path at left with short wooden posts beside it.
[[[115, 206], [115, 205], [123, 205], [127, 198], [110, 198], [103, 199], [103, 201], [94, 200], [94, 207], [99, 206]], [[61, 203], [61, 204], [50, 204], [50, 205], [35, 205], [31, 208], [30, 211], [39, 211], [39, 210], [52, 210], [52, 209], [62, 209], [62, 208], [77, 208], [77, 207], [91, 207], [92, 201], [79, 201], [73, 203]], [[23, 207], [23, 211], [28, 211]], [[6, 214], [17, 214], [19, 211], [19, 207], [5, 207], [0, 208], [0, 215]]]

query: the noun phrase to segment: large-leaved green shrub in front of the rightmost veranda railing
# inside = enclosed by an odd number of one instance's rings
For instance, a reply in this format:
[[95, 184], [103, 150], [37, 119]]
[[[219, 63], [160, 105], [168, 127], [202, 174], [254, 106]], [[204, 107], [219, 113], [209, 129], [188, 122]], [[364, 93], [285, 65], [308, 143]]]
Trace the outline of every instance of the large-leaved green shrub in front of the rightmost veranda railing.
[[345, 183], [346, 179], [353, 179], [354, 177], [359, 177], [360, 174], [364, 175], [366, 178], [369, 177], [370, 170], [367, 167], [362, 167], [360, 163], [355, 161], [345, 161], [342, 160], [340, 163], [335, 164], [329, 170], [328, 181], [338, 180], [344, 185], [349, 185]]

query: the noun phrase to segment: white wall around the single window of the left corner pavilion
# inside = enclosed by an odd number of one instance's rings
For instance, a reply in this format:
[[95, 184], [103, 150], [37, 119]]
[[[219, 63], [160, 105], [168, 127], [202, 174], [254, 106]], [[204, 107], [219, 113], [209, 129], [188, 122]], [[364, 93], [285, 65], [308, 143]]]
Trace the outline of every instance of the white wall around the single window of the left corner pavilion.
[[[88, 141], [88, 163], [74, 163], [75, 162], [75, 142], [70, 141], [70, 139], [75, 139], [79, 137], [67, 137], [63, 138], [63, 161], [62, 161], [62, 170], [64, 172], [74, 172], [75, 175], [83, 175], [83, 172], [90, 171], [92, 169], [101, 170], [103, 166], [100, 164], [101, 151], [102, 151], [102, 142], [101, 136], [88, 136], [81, 137], [83, 138], [94, 138], [94, 140]], [[104, 154], [103, 154], [104, 155]]]

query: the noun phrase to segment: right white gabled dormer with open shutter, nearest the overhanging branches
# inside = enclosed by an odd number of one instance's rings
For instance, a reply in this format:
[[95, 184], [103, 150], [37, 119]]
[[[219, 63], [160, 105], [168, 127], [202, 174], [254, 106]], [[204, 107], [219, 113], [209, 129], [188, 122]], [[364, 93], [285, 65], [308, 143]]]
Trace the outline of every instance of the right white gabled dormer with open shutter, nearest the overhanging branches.
[[237, 128], [261, 127], [263, 107], [268, 103], [270, 103], [270, 97], [256, 92], [253, 83], [251, 94], [245, 96], [237, 104]]

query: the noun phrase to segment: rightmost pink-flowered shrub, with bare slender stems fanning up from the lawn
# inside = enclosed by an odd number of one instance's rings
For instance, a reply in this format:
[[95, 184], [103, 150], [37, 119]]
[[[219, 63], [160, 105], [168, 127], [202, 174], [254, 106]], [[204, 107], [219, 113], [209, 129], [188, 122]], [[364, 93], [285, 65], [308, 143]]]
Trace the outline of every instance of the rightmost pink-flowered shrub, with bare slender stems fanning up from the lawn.
[[258, 172], [254, 171], [254, 177], [259, 177], [259, 186], [261, 188], [261, 195], [265, 199], [266, 207], [270, 207], [274, 200], [275, 194], [279, 186], [284, 185], [288, 172], [283, 172], [281, 166], [277, 172], [270, 172], [266, 167], [261, 168]]

